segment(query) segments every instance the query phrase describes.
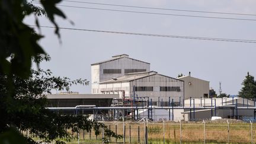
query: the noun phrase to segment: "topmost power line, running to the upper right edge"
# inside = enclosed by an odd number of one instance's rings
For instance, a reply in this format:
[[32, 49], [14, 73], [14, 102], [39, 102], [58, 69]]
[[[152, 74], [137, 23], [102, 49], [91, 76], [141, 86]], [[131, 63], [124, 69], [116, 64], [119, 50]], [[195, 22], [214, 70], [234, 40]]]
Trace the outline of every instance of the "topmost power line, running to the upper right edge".
[[230, 14], [230, 15], [248, 15], [248, 16], [256, 16], [256, 14], [241, 14], [241, 13], [231, 13], [231, 12], [194, 11], [194, 10], [187, 10], [187, 9], [169, 9], [169, 8], [156, 8], [156, 7], [139, 7], [139, 6], [134, 6], [134, 5], [116, 5], [116, 4], [97, 3], [97, 2], [68, 1], [68, 0], [64, 0], [64, 1], [66, 1], [66, 2], [83, 3], [83, 4], [109, 5], [109, 6], [116, 6], [116, 7], [128, 7], [128, 8], [144, 8], [144, 9], [158, 9], [158, 10], [168, 10], [168, 11], [201, 12], [201, 13], [209, 13], [209, 14]]

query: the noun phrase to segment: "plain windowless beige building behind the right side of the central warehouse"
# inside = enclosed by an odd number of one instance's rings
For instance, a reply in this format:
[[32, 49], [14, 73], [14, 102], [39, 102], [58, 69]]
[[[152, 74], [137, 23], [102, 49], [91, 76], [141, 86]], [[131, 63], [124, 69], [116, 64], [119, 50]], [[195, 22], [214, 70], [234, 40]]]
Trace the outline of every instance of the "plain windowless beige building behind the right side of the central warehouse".
[[189, 72], [188, 76], [181, 76], [180, 78], [184, 81], [184, 97], [185, 100], [188, 98], [209, 98], [209, 81], [203, 79], [194, 78]]

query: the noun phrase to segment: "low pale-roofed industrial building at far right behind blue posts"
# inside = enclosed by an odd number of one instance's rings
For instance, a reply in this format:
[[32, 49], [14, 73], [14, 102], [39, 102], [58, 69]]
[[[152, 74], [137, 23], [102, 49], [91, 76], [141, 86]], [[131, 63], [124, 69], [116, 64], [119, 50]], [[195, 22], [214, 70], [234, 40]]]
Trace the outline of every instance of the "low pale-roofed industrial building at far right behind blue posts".
[[[205, 107], [206, 109], [191, 109], [182, 112], [185, 121], [211, 119], [218, 116], [226, 119], [254, 119], [255, 101], [246, 98], [196, 98], [185, 100], [185, 107]], [[208, 108], [207, 107], [213, 107]], [[239, 107], [239, 108], [238, 108]]]

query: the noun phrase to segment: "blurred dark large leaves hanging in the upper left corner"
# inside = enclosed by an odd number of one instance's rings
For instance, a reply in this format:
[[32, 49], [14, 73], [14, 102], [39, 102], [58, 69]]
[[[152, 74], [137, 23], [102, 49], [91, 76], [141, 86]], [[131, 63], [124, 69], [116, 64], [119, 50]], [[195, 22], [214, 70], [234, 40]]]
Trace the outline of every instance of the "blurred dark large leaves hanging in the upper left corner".
[[38, 41], [43, 37], [34, 33], [34, 28], [24, 23], [24, 18], [30, 14], [36, 17], [47, 15], [56, 26], [55, 33], [59, 35], [59, 28], [55, 15], [66, 18], [56, 4], [61, 0], [41, 0], [43, 8], [39, 8], [26, 0], [0, 0], [0, 73], [21, 78], [28, 78], [31, 71], [31, 59], [40, 54], [46, 54]]

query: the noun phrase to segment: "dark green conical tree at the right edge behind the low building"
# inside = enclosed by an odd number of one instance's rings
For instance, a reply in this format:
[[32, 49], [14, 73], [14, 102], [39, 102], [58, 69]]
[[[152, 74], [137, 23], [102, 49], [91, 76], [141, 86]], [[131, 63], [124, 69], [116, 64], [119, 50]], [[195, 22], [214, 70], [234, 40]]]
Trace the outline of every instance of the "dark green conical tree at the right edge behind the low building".
[[242, 89], [239, 91], [239, 97], [242, 98], [256, 98], [256, 82], [254, 81], [254, 76], [247, 72], [244, 81], [242, 82]]

